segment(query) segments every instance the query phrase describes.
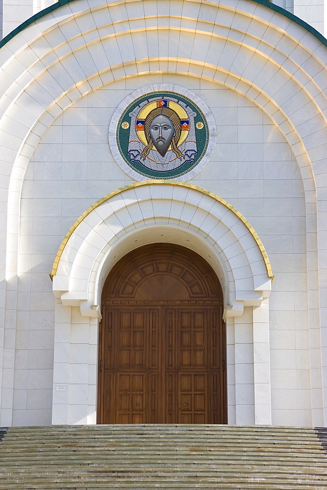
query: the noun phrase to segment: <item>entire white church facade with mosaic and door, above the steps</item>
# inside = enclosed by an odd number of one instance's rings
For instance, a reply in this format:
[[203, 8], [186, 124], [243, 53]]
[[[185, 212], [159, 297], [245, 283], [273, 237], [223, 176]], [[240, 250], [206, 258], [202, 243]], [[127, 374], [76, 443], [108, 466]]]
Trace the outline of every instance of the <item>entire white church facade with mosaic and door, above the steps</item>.
[[45, 6], [3, 6], [0, 426], [326, 426], [320, 10]]

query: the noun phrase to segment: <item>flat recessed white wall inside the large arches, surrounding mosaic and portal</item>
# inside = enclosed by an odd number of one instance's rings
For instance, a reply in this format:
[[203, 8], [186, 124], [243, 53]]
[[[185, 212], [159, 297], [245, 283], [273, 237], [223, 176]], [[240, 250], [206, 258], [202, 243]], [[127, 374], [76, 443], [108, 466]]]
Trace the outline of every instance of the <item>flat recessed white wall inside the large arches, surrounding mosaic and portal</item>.
[[[108, 125], [117, 104], [149, 83], [178, 83], [210, 106], [216, 151], [191, 182], [239, 209], [266, 247], [276, 275], [270, 296], [273, 423], [311, 425], [304, 191], [297, 163], [278, 127], [255, 104], [230, 89], [179, 75], [140, 76], [89, 94], [49, 127], [34, 152], [21, 201], [13, 421], [51, 421], [55, 298], [48, 273], [78, 216], [132, 182], [110, 154]], [[69, 329], [68, 320], [63, 323]], [[235, 319], [237, 347], [229, 354], [235, 356], [237, 423], [255, 421], [252, 329], [248, 308]]]

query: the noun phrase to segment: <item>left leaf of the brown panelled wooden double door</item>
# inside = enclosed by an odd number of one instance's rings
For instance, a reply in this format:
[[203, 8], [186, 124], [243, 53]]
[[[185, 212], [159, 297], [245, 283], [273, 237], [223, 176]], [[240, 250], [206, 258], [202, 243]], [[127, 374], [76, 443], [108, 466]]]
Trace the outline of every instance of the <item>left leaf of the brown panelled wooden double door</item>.
[[113, 308], [110, 314], [106, 310], [103, 423], [156, 423], [164, 406], [159, 398], [160, 310]]

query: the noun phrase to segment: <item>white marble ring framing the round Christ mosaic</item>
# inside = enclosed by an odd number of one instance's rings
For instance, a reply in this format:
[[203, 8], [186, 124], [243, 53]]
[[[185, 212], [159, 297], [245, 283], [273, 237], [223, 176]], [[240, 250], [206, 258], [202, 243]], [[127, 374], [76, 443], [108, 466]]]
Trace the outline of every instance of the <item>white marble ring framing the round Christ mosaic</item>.
[[194, 94], [191, 90], [185, 87], [181, 87], [180, 85], [174, 85], [171, 83], [156, 83], [153, 85], [146, 85], [138, 90], [135, 90], [120, 102], [120, 104], [117, 106], [117, 109], [115, 110], [111, 118], [109, 124], [109, 134], [108, 134], [110, 149], [117, 164], [123, 170], [123, 172], [125, 172], [127, 175], [129, 175], [129, 177], [137, 181], [144, 180], [144, 175], [133, 170], [121, 156], [117, 146], [117, 137], [116, 137], [117, 125], [123, 111], [134, 100], [136, 100], [139, 97], [142, 97], [143, 95], [149, 94], [151, 92], [161, 92], [164, 90], [169, 92], [175, 92], [176, 94], [180, 94], [192, 100], [194, 104], [196, 104], [199, 107], [199, 109], [201, 109], [208, 124], [208, 146], [205, 154], [203, 155], [199, 163], [195, 165], [195, 167], [193, 167], [191, 170], [184, 173], [183, 175], [180, 175], [178, 177], [178, 180], [182, 182], [186, 182], [187, 180], [192, 179], [193, 177], [195, 177], [195, 175], [201, 172], [205, 168], [205, 166], [210, 162], [210, 159], [215, 149], [216, 139], [217, 139], [216, 123], [214, 121], [213, 115], [209, 107], [200, 97]]

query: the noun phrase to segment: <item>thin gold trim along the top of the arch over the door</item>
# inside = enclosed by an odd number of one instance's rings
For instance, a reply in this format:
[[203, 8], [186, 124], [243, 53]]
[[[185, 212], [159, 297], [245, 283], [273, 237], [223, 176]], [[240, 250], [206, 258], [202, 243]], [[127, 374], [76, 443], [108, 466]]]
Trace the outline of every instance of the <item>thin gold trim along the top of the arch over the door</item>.
[[180, 182], [179, 180], [161, 180], [161, 179], [158, 179], [158, 180], [154, 180], [154, 179], [153, 180], [141, 180], [140, 182], [134, 182], [133, 184], [128, 184], [128, 185], [125, 185], [123, 187], [119, 187], [119, 189], [116, 189], [115, 191], [110, 192], [106, 196], [101, 197], [101, 199], [94, 202], [94, 204], [92, 204], [86, 211], [84, 211], [84, 213], [70, 227], [70, 229], [68, 230], [68, 232], [65, 235], [64, 240], [61, 242], [61, 245], [58, 249], [57, 255], [56, 255], [54, 262], [53, 262], [52, 271], [50, 273], [51, 279], [57, 273], [60, 257], [64, 251], [64, 248], [65, 248], [68, 240], [70, 239], [70, 236], [72, 235], [74, 230], [77, 228], [77, 226], [84, 220], [84, 218], [86, 218], [91, 213], [91, 211], [93, 211], [93, 209], [97, 208], [98, 206], [100, 206], [100, 204], [102, 204], [103, 202], [110, 199], [110, 197], [117, 196], [117, 194], [120, 194], [123, 191], [126, 191], [127, 189], [132, 189], [134, 187], [142, 187], [144, 185], [151, 185], [151, 184], [161, 184], [161, 185], [169, 184], [169, 185], [176, 185], [176, 186], [180, 186], [180, 187], [187, 187], [188, 189], [194, 189], [195, 191], [199, 191], [202, 194], [207, 194], [208, 196], [213, 197], [216, 201], [220, 202], [221, 204], [226, 206], [228, 209], [230, 209], [234, 213], [234, 215], [236, 215], [237, 218], [239, 218], [245, 224], [245, 226], [248, 228], [251, 235], [253, 236], [253, 238], [257, 242], [257, 246], [259, 247], [262, 258], [263, 258], [264, 263], [266, 265], [268, 277], [270, 277], [271, 280], [273, 280], [274, 275], [273, 275], [273, 271], [271, 269], [271, 265], [270, 265], [270, 262], [268, 259], [267, 252], [266, 252], [261, 240], [259, 239], [256, 230], [254, 229], [253, 226], [251, 226], [249, 221], [246, 220], [246, 218], [244, 218], [242, 213], [240, 213], [236, 208], [234, 208], [234, 206], [232, 206], [232, 204], [227, 202], [225, 199], [223, 199], [220, 196], [217, 196], [217, 194], [214, 194], [213, 192], [210, 192], [207, 189], [203, 189], [203, 187], [199, 187], [197, 185], [190, 184], [188, 182]]

